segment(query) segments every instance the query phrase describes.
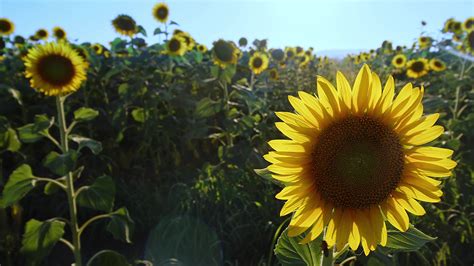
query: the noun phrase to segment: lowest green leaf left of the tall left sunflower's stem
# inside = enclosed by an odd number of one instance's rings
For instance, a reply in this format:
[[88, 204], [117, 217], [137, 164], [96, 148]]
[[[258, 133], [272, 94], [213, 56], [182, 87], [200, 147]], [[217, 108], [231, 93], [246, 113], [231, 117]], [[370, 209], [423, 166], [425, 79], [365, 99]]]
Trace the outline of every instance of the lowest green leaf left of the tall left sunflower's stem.
[[51, 252], [56, 242], [63, 236], [64, 225], [64, 222], [58, 220], [44, 222], [29, 220], [26, 223], [20, 252], [30, 260], [40, 261]]

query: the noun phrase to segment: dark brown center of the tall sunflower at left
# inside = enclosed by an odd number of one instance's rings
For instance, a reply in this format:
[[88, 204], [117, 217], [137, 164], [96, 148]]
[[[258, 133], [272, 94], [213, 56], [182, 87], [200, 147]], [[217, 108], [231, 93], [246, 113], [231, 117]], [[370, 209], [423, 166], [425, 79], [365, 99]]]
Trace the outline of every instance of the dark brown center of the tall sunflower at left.
[[48, 55], [39, 60], [38, 73], [44, 81], [63, 86], [73, 79], [75, 70], [70, 59], [61, 55]]

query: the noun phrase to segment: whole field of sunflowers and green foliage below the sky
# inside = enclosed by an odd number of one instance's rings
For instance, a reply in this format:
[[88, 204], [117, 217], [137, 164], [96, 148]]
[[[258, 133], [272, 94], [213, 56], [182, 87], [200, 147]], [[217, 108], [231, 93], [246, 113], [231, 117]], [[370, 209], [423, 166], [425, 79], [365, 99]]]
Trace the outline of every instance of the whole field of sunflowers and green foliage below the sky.
[[151, 12], [0, 18], [0, 265], [474, 264], [474, 17], [332, 59]]

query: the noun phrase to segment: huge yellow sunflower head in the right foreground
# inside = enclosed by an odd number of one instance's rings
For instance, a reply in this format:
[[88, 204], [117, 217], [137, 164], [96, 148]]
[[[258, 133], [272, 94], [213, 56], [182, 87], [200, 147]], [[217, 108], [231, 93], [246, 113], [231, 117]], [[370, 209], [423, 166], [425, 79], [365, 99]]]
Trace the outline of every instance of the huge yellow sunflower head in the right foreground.
[[276, 127], [290, 139], [269, 142], [268, 170], [285, 188], [280, 215], [294, 213], [288, 235], [307, 232], [341, 250], [362, 246], [367, 255], [387, 243], [388, 221], [400, 231], [407, 212], [425, 214], [417, 200], [438, 202], [441, 183], [456, 163], [452, 151], [421, 146], [443, 134], [433, 126], [439, 114], [422, 116], [423, 88], [405, 85], [394, 99], [389, 77], [382, 90], [376, 73], [364, 65], [353, 87], [337, 73], [337, 88], [317, 78], [318, 96], [289, 96], [297, 113], [277, 112]]

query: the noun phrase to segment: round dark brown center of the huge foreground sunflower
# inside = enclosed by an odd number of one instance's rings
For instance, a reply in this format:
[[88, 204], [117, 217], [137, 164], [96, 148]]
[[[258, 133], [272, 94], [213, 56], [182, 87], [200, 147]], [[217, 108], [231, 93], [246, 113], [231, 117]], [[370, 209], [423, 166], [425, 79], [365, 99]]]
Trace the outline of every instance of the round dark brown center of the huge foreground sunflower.
[[398, 185], [403, 149], [397, 134], [369, 116], [350, 116], [321, 132], [313, 175], [323, 199], [362, 209], [382, 202]]

